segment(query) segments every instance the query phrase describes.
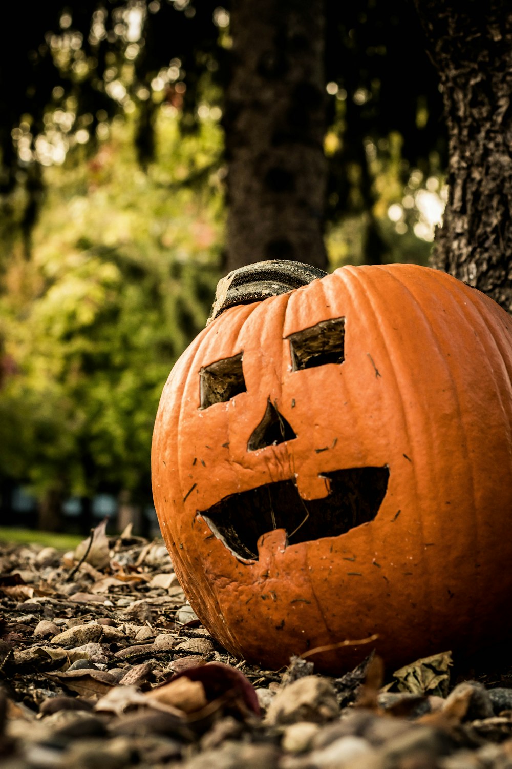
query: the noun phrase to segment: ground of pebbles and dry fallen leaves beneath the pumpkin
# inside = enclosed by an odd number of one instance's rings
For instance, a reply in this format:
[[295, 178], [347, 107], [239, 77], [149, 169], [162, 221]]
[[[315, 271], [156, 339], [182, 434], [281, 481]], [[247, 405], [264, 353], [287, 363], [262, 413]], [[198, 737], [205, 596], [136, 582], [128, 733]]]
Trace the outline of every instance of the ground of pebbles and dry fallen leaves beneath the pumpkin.
[[262, 670], [201, 626], [162, 541], [103, 524], [67, 554], [0, 546], [0, 639], [2, 769], [512, 769], [510, 670]]

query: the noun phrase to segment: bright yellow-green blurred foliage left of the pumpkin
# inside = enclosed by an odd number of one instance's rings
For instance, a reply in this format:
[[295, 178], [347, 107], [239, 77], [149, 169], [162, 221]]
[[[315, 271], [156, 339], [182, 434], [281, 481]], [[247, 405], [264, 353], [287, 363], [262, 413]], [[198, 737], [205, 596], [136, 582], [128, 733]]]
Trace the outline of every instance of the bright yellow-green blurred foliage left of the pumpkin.
[[220, 129], [205, 121], [180, 140], [163, 113], [157, 136], [147, 175], [122, 125], [94, 158], [48, 168], [33, 258], [13, 255], [5, 273], [0, 331], [12, 365], [0, 466], [40, 495], [125, 488], [147, 498], [161, 388], [210, 308], [218, 178], [196, 191], [176, 181], [216, 158]]

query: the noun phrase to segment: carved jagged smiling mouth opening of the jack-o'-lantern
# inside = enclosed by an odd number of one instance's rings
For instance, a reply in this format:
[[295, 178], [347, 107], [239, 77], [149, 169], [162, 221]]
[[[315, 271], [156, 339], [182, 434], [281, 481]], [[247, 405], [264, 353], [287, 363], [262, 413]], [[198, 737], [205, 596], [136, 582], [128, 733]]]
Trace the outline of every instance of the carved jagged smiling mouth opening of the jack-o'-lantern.
[[294, 481], [276, 481], [231, 494], [198, 511], [211, 531], [238, 558], [257, 560], [259, 537], [286, 530], [288, 543], [338, 537], [373, 521], [388, 489], [389, 470], [350, 468], [319, 474], [329, 494], [302, 499]]

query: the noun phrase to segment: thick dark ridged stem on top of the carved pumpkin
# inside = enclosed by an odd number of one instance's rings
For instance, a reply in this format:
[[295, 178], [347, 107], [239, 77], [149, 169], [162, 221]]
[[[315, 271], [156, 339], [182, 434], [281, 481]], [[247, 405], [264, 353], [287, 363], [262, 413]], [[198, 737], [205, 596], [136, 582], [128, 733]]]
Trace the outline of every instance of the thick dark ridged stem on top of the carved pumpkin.
[[325, 275], [327, 273], [317, 267], [285, 259], [258, 261], [254, 265], [239, 267], [217, 283], [215, 301], [206, 325], [230, 307], [250, 305], [253, 301], [286, 294], [317, 278], [325, 278]]

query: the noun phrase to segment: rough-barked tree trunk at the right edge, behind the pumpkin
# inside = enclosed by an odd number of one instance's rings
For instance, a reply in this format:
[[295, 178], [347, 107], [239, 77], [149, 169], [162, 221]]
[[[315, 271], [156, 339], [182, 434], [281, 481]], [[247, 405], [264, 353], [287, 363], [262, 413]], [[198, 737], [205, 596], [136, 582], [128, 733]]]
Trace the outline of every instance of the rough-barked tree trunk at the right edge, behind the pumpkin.
[[512, 8], [415, 0], [448, 122], [449, 198], [432, 265], [512, 311]]

